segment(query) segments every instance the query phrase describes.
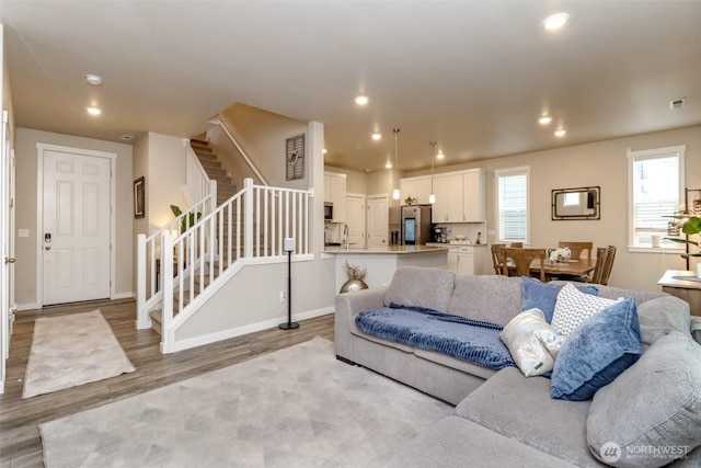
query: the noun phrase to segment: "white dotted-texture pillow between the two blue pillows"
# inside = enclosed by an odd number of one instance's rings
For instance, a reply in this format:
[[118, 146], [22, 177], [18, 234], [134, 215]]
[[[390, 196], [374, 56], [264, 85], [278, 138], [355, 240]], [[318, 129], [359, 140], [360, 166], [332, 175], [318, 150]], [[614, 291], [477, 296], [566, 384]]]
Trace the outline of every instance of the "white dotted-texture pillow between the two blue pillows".
[[614, 303], [613, 299], [584, 294], [567, 283], [558, 293], [551, 324], [558, 332], [568, 336], [586, 319]]

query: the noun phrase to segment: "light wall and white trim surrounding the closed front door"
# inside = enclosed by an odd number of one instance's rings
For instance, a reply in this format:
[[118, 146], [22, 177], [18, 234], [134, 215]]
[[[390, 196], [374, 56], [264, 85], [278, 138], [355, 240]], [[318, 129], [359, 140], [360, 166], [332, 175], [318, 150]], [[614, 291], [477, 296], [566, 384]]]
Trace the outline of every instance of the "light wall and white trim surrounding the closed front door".
[[19, 309], [35, 308], [37, 304], [36, 284], [36, 236], [37, 236], [37, 174], [36, 144], [68, 146], [117, 155], [115, 181], [115, 295], [133, 295], [134, 247], [131, 221], [134, 219], [131, 145], [81, 138], [50, 132], [16, 128], [16, 229], [28, 229], [30, 237], [18, 237], [15, 243], [15, 298]]

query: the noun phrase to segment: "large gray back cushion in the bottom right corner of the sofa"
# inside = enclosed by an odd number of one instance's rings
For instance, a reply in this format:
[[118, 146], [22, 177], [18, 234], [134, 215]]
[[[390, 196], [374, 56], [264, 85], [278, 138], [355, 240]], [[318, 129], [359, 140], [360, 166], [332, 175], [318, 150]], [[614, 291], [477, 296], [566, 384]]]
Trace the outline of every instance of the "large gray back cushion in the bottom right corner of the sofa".
[[654, 447], [690, 452], [701, 446], [701, 346], [688, 333], [674, 331], [657, 340], [594, 396], [587, 440], [602, 459], [601, 448], [617, 444], [622, 455], [607, 460], [617, 467], [658, 467], [683, 455], [640, 456]]

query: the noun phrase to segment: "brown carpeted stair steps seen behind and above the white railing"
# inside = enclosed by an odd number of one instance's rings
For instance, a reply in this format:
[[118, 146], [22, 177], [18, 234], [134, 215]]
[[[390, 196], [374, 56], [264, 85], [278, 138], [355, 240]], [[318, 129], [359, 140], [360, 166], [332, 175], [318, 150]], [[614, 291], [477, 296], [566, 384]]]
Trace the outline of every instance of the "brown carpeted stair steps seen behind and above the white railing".
[[[217, 206], [220, 206], [222, 203], [227, 202], [237, 193], [237, 187], [231, 182], [231, 176], [227, 174], [226, 169], [222, 168], [221, 161], [219, 161], [219, 159], [217, 158], [217, 155], [209, 147], [209, 144], [207, 141], [191, 139], [189, 145], [193, 151], [195, 152], [195, 155], [197, 156], [197, 159], [199, 160], [203, 169], [207, 173], [207, 176], [209, 176], [209, 179], [214, 181], [217, 181]], [[235, 212], [232, 213], [232, 216], [235, 216]], [[223, 219], [225, 219], [225, 222], [228, 222], [228, 213], [223, 214]], [[228, 244], [229, 244], [228, 232], [223, 232], [222, 240], [223, 240], [222, 242], [223, 252], [220, 256], [222, 259], [226, 259], [227, 258], [226, 253], [228, 252]], [[234, 259], [238, 255], [234, 254]], [[208, 267], [214, 269], [214, 278], [217, 278], [219, 276], [219, 272], [221, 271], [221, 269], [219, 267], [220, 266], [219, 262], [220, 262], [219, 260], [215, 260], [208, 263]], [[226, 261], [223, 262], [222, 266], [225, 269], [228, 266]], [[176, 266], [174, 266], [174, 270], [176, 270]], [[202, 290], [205, 287], [209, 286], [209, 283], [214, 279], [214, 278], [210, 279], [210, 275], [207, 272], [204, 272], [204, 273], [205, 274], [203, 275], [195, 273], [193, 284], [196, 290]], [[179, 303], [180, 303], [180, 294], [176, 290], [173, 293], [174, 310], [180, 309], [180, 307], [177, 307]], [[187, 304], [189, 304], [189, 295], [184, 294], [182, 306], [185, 307]], [[151, 328], [158, 333], [161, 333], [163, 311], [160, 309], [156, 309], [149, 312], [149, 316], [151, 317]]]

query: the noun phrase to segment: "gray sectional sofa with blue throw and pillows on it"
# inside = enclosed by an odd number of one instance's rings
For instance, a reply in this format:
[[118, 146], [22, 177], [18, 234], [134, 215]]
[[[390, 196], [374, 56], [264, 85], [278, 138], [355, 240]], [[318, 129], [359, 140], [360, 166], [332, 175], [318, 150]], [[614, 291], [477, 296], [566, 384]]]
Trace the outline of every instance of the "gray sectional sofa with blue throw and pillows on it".
[[[359, 315], [389, 307], [504, 327], [538, 303], [540, 287], [526, 289], [516, 277], [403, 267], [388, 286], [336, 297], [340, 359], [456, 406], [455, 415], [420, 433], [390, 465], [701, 467], [701, 345], [690, 332], [698, 321], [673, 296], [597, 286], [599, 297], [632, 298], [641, 354], [583, 401], [552, 398], [550, 378], [525, 377], [519, 367], [491, 369], [358, 328]], [[551, 289], [542, 296], [554, 300]]]

